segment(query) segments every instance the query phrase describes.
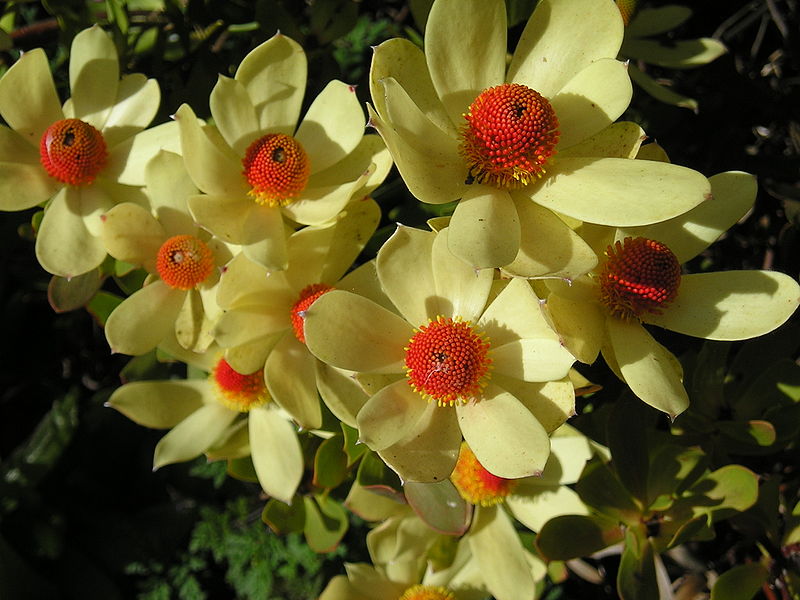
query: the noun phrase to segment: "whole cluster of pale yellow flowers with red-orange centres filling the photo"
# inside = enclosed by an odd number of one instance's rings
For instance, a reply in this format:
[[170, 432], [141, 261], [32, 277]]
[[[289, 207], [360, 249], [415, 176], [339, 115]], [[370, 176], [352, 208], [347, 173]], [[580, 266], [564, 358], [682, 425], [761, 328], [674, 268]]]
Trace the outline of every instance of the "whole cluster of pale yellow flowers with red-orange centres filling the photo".
[[[120, 79], [94, 27], [72, 45], [63, 105], [41, 50], [0, 80], [0, 208], [44, 206], [36, 254], [54, 275], [107, 255], [147, 271], [108, 318], [109, 345], [208, 374], [111, 397], [171, 429], [155, 467], [249, 456], [266, 493], [290, 503], [298, 428], [326, 435], [321, 398], [406, 486], [450, 480], [476, 505], [453, 564], [411, 587], [424, 556], [403, 558], [394, 540], [425, 525], [388, 507], [376, 566], [349, 566], [326, 600], [532, 597], [544, 566], [497, 505], [533, 530], [581, 511], [561, 487], [590, 452], [564, 425], [574, 362], [602, 353], [674, 417], [689, 402], [680, 365], [644, 324], [744, 339], [800, 298], [780, 273], [682, 274], [749, 209], [755, 182], [670, 164], [638, 125], [615, 122], [631, 99], [623, 30], [611, 0], [543, 0], [509, 63], [502, 0], [436, 0], [424, 52], [402, 39], [375, 49], [379, 135], [365, 135], [339, 81], [300, 119], [306, 57], [282, 35], [220, 76], [208, 123], [184, 105], [148, 129], [157, 83]], [[457, 204], [429, 230], [398, 226], [352, 269], [393, 163], [421, 202]]]

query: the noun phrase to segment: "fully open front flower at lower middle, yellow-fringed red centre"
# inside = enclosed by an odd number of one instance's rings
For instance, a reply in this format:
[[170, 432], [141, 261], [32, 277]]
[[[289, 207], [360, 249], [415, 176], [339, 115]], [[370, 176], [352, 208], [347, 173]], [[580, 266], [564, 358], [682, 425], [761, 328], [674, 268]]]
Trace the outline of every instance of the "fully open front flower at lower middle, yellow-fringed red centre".
[[361, 440], [402, 479], [449, 476], [462, 434], [495, 475], [532, 475], [548, 431], [573, 411], [574, 359], [528, 282], [476, 272], [450, 253], [448, 233], [399, 227], [376, 262], [393, 307], [328, 292], [306, 311], [306, 343], [359, 374], [371, 395]]

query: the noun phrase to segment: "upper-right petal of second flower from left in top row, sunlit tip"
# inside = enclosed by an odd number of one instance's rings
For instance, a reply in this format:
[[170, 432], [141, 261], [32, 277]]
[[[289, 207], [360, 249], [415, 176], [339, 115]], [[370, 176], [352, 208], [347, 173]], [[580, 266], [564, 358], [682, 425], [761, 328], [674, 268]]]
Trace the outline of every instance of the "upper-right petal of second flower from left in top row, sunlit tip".
[[355, 87], [334, 80], [312, 102], [297, 128], [295, 139], [308, 154], [311, 172], [318, 173], [358, 146], [364, 126], [364, 111]]

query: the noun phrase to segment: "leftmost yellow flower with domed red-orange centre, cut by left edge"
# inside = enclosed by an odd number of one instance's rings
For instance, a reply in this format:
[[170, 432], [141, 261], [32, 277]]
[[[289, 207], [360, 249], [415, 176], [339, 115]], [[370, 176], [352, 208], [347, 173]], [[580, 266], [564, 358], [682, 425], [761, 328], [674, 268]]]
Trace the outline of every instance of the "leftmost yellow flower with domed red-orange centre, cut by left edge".
[[158, 84], [139, 73], [120, 79], [116, 48], [100, 27], [76, 35], [70, 57], [72, 97], [63, 107], [39, 48], [0, 79], [0, 115], [9, 125], [0, 126], [0, 209], [49, 200], [36, 256], [64, 277], [103, 261], [100, 216], [117, 202], [144, 201], [144, 166], [172, 130], [139, 134], [158, 110]]

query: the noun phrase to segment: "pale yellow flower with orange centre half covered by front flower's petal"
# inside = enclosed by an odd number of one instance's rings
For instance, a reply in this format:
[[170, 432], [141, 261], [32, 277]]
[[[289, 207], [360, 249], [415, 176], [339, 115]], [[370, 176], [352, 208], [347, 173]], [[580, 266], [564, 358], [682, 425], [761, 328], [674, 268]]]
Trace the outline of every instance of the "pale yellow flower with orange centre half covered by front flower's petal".
[[356, 425], [363, 392], [348, 375], [308, 351], [303, 323], [322, 294], [334, 287], [353, 289], [363, 273], [374, 271], [367, 265], [345, 275], [379, 219], [371, 198], [356, 200], [335, 223], [289, 236], [285, 271], [268, 271], [240, 254], [220, 278], [217, 301], [224, 313], [214, 328], [217, 343], [234, 368], [263, 370], [272, 397], [306, 429], [322, 424], [320, 394], [334, 415]]

